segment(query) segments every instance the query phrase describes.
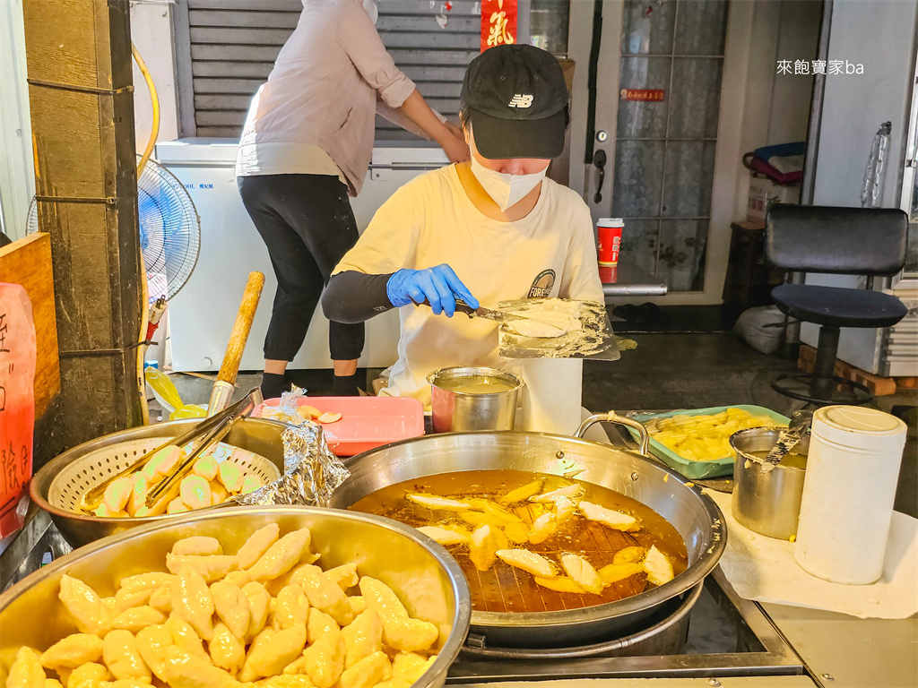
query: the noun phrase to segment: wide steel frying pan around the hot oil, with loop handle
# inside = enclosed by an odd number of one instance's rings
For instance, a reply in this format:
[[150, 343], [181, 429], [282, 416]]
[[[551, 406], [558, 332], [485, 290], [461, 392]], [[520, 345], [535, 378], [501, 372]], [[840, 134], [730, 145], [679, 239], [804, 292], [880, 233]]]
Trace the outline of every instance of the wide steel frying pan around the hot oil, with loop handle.
[[[586, 427], [585, 423], [581, 430]], [[689, 552], [686, 571], [669, 583], [619, 602], [557, 612], [473, 611], [472, 631], [485, 636], [489, 646], [569, 647], [633, 632], [646, 625], [658, 605], [687, 595], [700, 583], [717, 565], [726, 544], [720, 509], [677, 472], [636, 452], [579, 438], [526, 432], [433, 435], [367, 451], [347, 465], [351, 477], [332, 495], [332, 506], [346, 508], [386, 485], [443, 472], [580, 471], [578, 480], [626, 494], [654, 509], [685, 540]]]

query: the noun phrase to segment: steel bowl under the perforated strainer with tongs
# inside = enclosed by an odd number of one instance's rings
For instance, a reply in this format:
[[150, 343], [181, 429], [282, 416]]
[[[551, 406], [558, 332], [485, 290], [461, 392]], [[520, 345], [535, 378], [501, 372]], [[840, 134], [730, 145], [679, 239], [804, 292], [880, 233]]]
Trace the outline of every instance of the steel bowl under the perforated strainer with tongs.
[[[50, 485], [62, 469], [91, 451], [114, 447], [123, 442], [144, 438], [162, 438], [165, 441], [167, 438], [178, 437], [185, 433], [198, 422], [200, 421], [197, 418], [189, 418], [187, 420], [174, 420], [170, 423], [158, 423], [152, 426], [131, 427], [128, 430], [113, 432], [110, 435], [84, 442], [77, 447], [73, 447], [73, 449], [68, 449], [42, 466], [41, 470], [32, 478], [28, 494], [33, 502], [50, 514], [54, 525], [57, 526], [62, 536], [73, 547], [82, 547], [99, 538], [106, 538], [129, 528], [172, 520], [176, 516], [170, 514], [146, 518], [103, 518], [101, 516], [77, 514], [73, 511], [58, 508], [50, 503], [48, 499]], [[273, 420], [243, 418], [232, 427], [229, 435], [223, 441], [235, 447], [241, 447], [241, 449], [248, 449], [260, 454], [283, 472], [284, 442], [281, 439], [281, 435], [285, 429], [286, 426], [283, 423], [277, 423]]]

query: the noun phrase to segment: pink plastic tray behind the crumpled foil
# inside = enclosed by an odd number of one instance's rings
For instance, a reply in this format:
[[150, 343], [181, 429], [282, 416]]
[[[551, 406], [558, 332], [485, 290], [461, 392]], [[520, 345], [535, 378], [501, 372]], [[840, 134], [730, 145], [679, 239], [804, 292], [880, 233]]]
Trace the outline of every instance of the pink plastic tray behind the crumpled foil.
[[[263, 406], [276, 406], [280, 401], [267, 399], [252, 416], [261, 416]], [[424, 406], [407, 396], [307, 396], [299, 399], [299, 405], [341, 414], [336, 423], [319, 423], [329, 449], [337, 456], [354, 456], [424, 434]]]

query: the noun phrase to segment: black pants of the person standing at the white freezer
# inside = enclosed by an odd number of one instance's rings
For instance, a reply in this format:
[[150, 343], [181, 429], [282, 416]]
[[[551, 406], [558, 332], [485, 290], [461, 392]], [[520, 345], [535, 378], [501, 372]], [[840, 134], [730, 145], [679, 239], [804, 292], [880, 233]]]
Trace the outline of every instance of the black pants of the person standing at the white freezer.
[[[293, 361], [341, 257], [357, 242], [347, 187], [327, 174], [238, 177], [242, 203], [262, 235], [277, 293], [264, 338], [264, 358]], [[364, 324], [329, 323], [332, 361], [351, 361], [364, 350]]]

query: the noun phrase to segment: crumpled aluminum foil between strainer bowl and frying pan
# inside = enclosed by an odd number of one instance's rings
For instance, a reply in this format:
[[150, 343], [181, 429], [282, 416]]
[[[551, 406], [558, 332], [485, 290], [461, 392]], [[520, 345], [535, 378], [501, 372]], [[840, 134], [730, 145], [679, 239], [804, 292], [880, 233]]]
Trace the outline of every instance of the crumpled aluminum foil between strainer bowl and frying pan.
[[302, 421], [288, 427], [281, 436], [284, 475], [274, 483], [236, 497], [237, 504], [328, 506], [335, 488], [351, 475], [341, 459], [331, 453], [322, 428], [297, 415], [297, 399], [301, 396], [303, 390], [295, 387], [281, 397], [281, 406], [291, 407], [292, 415]]

